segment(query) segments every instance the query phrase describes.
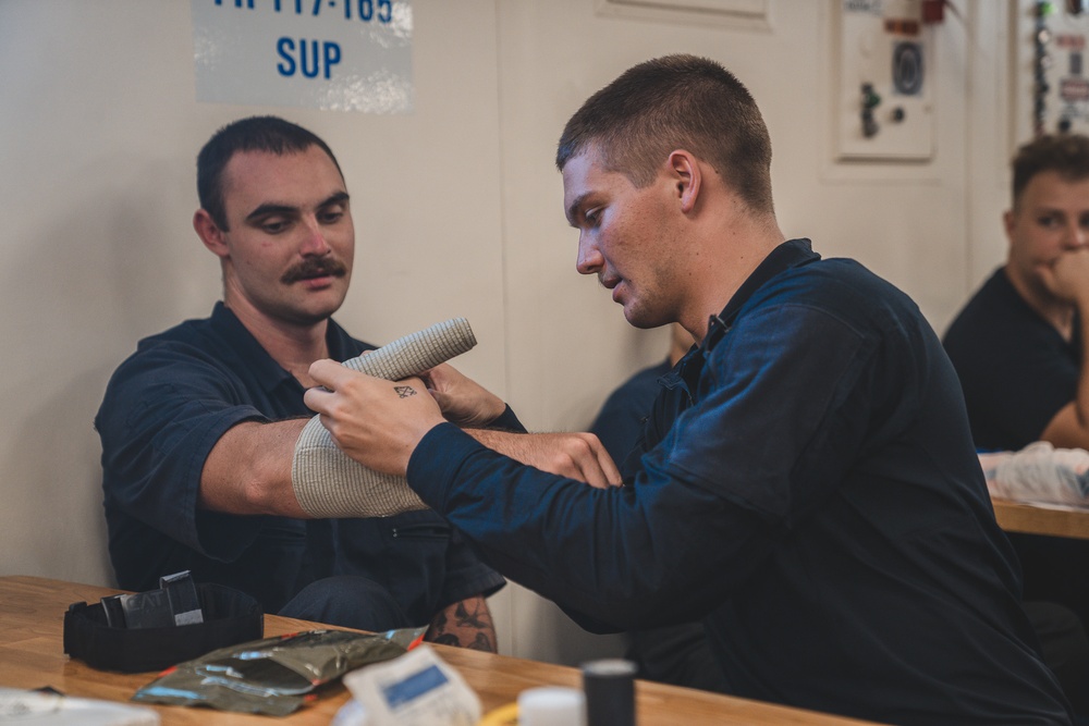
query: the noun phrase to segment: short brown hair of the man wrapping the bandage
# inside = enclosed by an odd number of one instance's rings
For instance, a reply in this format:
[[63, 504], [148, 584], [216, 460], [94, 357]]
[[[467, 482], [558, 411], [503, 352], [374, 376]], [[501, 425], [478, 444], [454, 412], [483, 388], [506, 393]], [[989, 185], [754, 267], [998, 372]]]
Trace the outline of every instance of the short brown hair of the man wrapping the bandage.
[[594, 94], [560, 137], [555, 164], [596, 146], [610, 171], [644, 187], [670, 152], [710, 163], [748, 206], [774, 211], [771, 138], [748, 89], [714, 61], [665, 56], [635, 65]]

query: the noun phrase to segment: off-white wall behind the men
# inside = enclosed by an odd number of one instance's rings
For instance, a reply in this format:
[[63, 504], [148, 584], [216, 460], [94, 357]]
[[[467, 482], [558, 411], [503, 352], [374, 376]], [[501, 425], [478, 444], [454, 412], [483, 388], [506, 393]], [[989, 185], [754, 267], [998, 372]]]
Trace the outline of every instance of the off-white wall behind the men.
[[[832, 162], [832, 0], [769, 0], [770, 30], [602, 16], [595, 0], [414, 0], [415, 111], [377, 116], [198, 103], [184, 0], [0, 0], [0, 575], [110, 583], [91, 419], [136, 341], [219, 296], [189, 226], [194, 157], [223, 123], [279, 113], [333, 147], [353, 195], [357, 271], [338, 319], [375, 343], [454, 315], [460, 361], [538, 430], [580, 429], [659, 359], [574, 271], [552, 167], [567, 116], [635, 62], [687, 51], [733, 70], [764, 111], [784, 232], [858, 258], [944, 328], [1002, 248], [1008, 12], [954, 3], [935, 29], [938, 151]], [[504, 652], [577, 662], [517, 588], [493, 601]]]

